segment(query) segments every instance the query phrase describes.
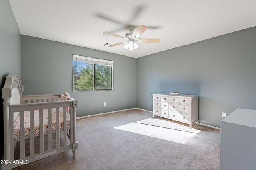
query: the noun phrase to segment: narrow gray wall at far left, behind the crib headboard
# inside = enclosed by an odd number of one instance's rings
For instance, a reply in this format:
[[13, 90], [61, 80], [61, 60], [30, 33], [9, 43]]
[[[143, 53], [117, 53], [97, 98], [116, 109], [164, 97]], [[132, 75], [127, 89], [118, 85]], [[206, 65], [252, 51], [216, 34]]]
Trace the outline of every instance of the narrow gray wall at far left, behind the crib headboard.
[[[0, 89], [8, 74], [20, 76], [20, 30], [8, 0], [0, 0]], [[3, 158], [3, 100], [0, 90], [0, 160]]]

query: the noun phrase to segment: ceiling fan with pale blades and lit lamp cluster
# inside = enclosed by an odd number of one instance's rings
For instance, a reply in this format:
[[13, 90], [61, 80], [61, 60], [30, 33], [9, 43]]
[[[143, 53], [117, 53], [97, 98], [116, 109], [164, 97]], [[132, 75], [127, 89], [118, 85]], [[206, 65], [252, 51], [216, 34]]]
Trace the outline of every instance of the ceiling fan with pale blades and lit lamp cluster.
[[140, 49], [137, 42], [142, 42], [142, 43], [159, 43], [160, 42], [160, 39], [139, 38], [139, 36], [142, 33], [144, 33], [144, 31], [146, 31], [146, 29], [148, 29], [148, 27], [145, 27], [143, 25], [139, 25], [136, 30], [135, 30], [134, 26], [128, 26], [127, 28], [130, 31], [130, 33], [126, 33], [125, 37], [123, 37], [121, 35], [114, 34], [114, 33], [110, 33], [110, 32], [104, 32], [104, 34], [112, 35], [114, 37], [125, 39], [123, 42], [110, 45], [109, 47], [114, 47], [116, 45], [121, 45], [121, 44], [125, 43], [125, 45], [124, 45], [125, 49], [136, 51], [136, 50]]

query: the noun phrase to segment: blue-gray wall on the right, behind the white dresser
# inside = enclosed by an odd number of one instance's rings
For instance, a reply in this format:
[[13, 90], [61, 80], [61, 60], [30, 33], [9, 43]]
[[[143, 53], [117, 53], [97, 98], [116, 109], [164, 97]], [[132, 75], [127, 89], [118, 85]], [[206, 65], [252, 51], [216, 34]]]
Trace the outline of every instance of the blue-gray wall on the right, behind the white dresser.
[[222, 112], [256, 109], [256, 27], [139, 58], [137, 107], [170, 91], [199, 95], [200, 123], [216, 127]]

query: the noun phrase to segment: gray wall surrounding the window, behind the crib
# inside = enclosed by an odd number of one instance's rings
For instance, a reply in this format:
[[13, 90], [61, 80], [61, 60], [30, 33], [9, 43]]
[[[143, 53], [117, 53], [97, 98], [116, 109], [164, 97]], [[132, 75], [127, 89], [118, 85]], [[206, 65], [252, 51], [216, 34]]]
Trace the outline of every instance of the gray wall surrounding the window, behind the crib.
[[[136, 107], [136, 59], [26, 35], [21, 44], [24, 95], [67, 91], [78, 100], [78, 117]], [[113, 90], [72, 92], [73, 54], [114, 61]]]

